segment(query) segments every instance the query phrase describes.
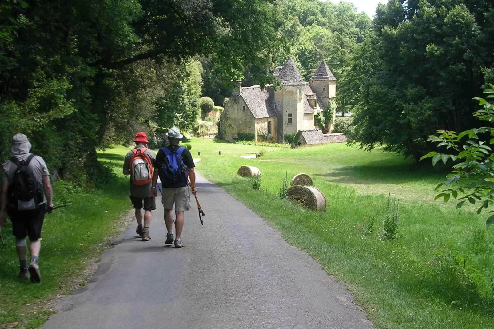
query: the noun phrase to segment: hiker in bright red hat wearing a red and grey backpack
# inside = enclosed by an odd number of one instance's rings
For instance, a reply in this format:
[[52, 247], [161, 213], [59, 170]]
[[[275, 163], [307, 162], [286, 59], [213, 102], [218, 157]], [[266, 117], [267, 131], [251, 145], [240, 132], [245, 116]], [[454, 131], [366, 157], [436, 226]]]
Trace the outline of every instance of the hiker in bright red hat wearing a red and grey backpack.
[[[148, 137], [145, 132], [135, 134], [135, 147], [128, 152], [124, 161], [124, 175], [130, 175], [129, 196], [135, 208], [137, 228], [135, 232], [142, 241], [149, 241], [149, 225], [151, 211], [156, 209], [155, 198], [151, 195], [153, 182], [153, 164], [156, 154], [148, 149]], [[144, 208], [144, 227], [142, 226], [142, 211]]]

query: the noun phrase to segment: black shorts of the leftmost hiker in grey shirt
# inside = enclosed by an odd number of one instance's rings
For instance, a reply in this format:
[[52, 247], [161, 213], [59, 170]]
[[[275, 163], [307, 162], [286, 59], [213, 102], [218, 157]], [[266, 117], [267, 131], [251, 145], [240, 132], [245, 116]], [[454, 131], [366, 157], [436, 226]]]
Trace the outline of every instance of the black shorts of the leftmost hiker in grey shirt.
[[38, 241], [41, 238], [46, 204], [34, 210], [8, 209], [7, 213], [12, 222], [12, 231], [17, 239], [29, 237], [29, 241]]

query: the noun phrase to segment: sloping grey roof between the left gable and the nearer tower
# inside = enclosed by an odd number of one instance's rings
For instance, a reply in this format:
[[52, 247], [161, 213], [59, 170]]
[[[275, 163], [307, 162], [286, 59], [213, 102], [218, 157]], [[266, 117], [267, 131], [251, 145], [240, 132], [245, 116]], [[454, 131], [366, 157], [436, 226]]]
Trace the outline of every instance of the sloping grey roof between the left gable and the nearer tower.
[[242, 87], [242, 98], [252, 112], [255, 119], [276, 117], [275, 90], [272, 86], [265, 86], [263, 90], [259, 85]]

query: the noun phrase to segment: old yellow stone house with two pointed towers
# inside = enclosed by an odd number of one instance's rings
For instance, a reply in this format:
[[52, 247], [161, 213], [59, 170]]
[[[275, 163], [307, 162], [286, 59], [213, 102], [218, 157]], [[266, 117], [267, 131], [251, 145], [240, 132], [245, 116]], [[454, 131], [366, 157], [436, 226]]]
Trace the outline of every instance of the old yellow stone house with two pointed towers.
[[[329, 100], [336, 97], [336, 78], [326, 62], [321, 62], [309, 82], [302, 80], [291, 57], [273, 75], [281, 82], [279, 90], [272, 85], [262, 90], [259, 85], [242, 87], [236, 82], [220, 117], [223, 139], [233, 141], [238, 133], [250, 133], [256, 141], [282, 143], [287, 134], [322, 128], [315, 114], [327, 109]], [[332, 116], [334, 121], [335, 113]]]

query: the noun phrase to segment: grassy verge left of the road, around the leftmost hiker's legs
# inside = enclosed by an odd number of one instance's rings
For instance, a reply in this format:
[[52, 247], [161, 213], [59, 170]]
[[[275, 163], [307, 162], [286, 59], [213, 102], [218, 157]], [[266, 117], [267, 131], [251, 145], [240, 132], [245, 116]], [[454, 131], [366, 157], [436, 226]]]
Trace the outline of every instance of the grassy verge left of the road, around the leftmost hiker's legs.
[[[100, 161], [121, 174], [123, 151], [118, 148], [101, 153]], [[46, 321], [52, 311], [43, 306], [44, 302], [57, 292], [68, 292], [88, 260], [106, 247], [104, 239], [118, 233], [119, 219], [129, 208], [127, 191], [128, 180], [122, 175], [95, 191], [75, 189], [61, 181], [54, 183], [54, 204], [68, 202], [70, 206], [45, 217], [40, 285], [16, 278], [19, 263], [9, 222], [2, 230], [6, 247], [0, 249], [0, 328], [36, 328]]]

